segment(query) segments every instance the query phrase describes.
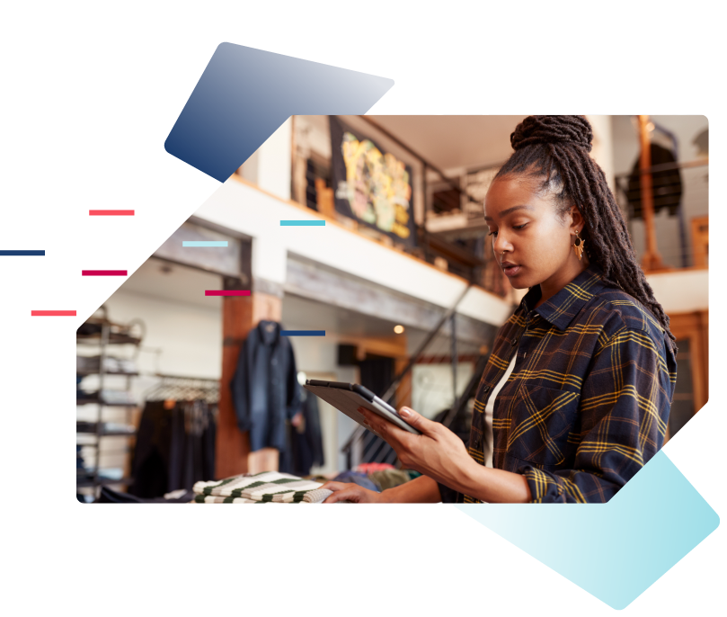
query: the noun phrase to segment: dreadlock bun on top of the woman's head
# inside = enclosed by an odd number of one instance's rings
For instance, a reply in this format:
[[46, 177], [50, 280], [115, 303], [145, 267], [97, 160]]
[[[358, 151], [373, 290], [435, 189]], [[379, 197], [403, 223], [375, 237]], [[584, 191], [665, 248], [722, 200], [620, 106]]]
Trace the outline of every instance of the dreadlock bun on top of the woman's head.
[[590, 152], [593, 130], [582, 115], [536, 115], [520, 122], [510, 135], [514, 150], [536, 144], [570, 144]]

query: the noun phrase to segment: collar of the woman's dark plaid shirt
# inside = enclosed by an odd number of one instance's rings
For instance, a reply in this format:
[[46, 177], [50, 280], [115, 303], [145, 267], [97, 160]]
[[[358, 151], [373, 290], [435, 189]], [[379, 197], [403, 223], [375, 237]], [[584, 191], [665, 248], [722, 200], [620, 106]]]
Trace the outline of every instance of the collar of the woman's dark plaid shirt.
[[[558, 329], [565, 330], [586, 302], [603, 287], [603, 270], [598, 264], [591, 263], [588, 268], [551, 299], [545, 300], [535, 311]], [[522, 299], [522, 307], [526, 313], [533, 310], [541, 295], [540, 285], [530, 288]]]

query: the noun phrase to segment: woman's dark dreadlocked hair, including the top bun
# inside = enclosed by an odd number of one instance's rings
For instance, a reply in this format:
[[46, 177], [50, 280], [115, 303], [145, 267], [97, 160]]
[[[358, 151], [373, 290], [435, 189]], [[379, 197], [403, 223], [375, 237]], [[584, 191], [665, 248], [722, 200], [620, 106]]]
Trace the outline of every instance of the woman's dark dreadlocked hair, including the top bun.
[[603, 170], [590, 157], [593, 130], [582, 115], [528, 116], [510, 135], [515, 152], [495, 175], [518, 175], [554, 195], [563, 219], [573, 204], [585, 227], [586, 255], [603, 270], [604, 282], [619, 287], [648, 307], [669, 334], [669, 316], [654, 298], [631, 243], [626, 222]]

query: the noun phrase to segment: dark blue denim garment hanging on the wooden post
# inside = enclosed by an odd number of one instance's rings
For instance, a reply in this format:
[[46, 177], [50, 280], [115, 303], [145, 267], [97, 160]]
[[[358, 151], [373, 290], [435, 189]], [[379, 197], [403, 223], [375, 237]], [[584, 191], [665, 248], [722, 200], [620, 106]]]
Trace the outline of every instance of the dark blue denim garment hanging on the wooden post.
[[237, 425], [250, 433], [252, 452], [288, 452], [287, 421], [301, 405], [293, 346], [280, 324], [261, 321], [244, 341], [230, 382]]

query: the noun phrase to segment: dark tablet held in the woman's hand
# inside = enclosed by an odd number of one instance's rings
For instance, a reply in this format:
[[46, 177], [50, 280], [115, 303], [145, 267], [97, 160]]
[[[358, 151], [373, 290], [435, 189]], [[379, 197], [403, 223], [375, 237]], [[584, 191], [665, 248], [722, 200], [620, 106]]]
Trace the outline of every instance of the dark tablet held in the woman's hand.
[[[394, 423], [404, 431], [415, 435], [421, 435], [421, 432], [413, 426], [406, 424], [401, 416], [396, 412], [394, 407], [385, 403], [378, 398], [373, 392], [359, 386], [358, 383], [341, 383], [340, 381], [319, 381], [306, 380], [303, 386], [309, 392], [313, 392], [316, 397], [323, 398], [326, 403], [332, 405], [339, 411], [349, 416], [351, 420], [355, 420], [359, 425], [364, 426], [366, 418], [359, 414], [358, 407], [364, 407], [369, 411], [383, 417], [385, 420]], [[376, 431], [368, 426], [364, 428], [381, 437]], [[382, 438], [383, 439], [383, 438]]]

